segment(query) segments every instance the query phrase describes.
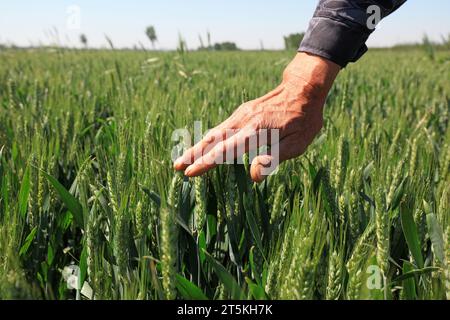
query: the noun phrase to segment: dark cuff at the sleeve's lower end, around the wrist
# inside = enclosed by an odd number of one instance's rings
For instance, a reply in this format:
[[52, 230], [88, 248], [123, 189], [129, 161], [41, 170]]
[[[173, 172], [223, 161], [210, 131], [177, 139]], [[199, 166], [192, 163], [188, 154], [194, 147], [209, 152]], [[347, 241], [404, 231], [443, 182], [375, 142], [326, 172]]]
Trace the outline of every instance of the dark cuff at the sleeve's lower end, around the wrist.
[[370, 31], [328, 17], [311, 19], [298, 51], [311, 53], [345, 67], [366, 51]]

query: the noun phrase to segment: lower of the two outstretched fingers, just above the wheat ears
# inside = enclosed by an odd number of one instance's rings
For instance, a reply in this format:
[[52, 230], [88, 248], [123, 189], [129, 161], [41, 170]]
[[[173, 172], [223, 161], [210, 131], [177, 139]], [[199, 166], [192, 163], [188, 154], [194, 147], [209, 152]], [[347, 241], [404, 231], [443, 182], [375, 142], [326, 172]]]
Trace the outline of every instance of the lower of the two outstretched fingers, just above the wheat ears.
[[227, 140], [216, 144], [209, 152], [190, 165], [184, 174], [188, 177], [202, 175], [219, 164], [231, 162], [244, 153], [258, 148], [259, 132], [251, 127], [239, 130]]

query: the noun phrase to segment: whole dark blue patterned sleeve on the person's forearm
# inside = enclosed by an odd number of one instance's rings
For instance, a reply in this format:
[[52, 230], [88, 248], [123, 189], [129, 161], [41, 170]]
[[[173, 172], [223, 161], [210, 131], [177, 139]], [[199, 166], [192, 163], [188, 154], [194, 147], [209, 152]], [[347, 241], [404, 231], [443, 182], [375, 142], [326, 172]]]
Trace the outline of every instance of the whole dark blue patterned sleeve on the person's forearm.
[[345, 67], [367, 51], [365, 43], [374, 30], [374, 19], [388, 16], [405, 2], [320, 0], [299, 51], [324, 57]]

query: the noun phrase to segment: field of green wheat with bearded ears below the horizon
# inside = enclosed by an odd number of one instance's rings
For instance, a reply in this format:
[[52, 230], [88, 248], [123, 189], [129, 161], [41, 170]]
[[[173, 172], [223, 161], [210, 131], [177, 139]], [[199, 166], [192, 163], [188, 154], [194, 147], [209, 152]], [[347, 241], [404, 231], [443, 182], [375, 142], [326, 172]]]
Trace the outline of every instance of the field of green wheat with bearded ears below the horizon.
[[374, 50], [307, 152], [175, 174], [292, 52], [0, 51], [0, 299], [449, 299], [450, 52]]

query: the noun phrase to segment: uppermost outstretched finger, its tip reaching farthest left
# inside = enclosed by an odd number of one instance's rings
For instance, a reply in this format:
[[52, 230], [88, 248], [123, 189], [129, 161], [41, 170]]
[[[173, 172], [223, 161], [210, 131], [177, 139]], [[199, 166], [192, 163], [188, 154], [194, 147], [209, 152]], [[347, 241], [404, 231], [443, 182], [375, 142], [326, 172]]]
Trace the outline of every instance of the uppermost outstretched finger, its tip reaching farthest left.
[[234, 135], [234, 130], [226, 128], [227, 121], [210, 130], [205, 137], [193, 147], [186, 150], [181, 157], [174, 162], [175, 170], [185, 170], [188, 166], [211, 150], [216, 144]]

